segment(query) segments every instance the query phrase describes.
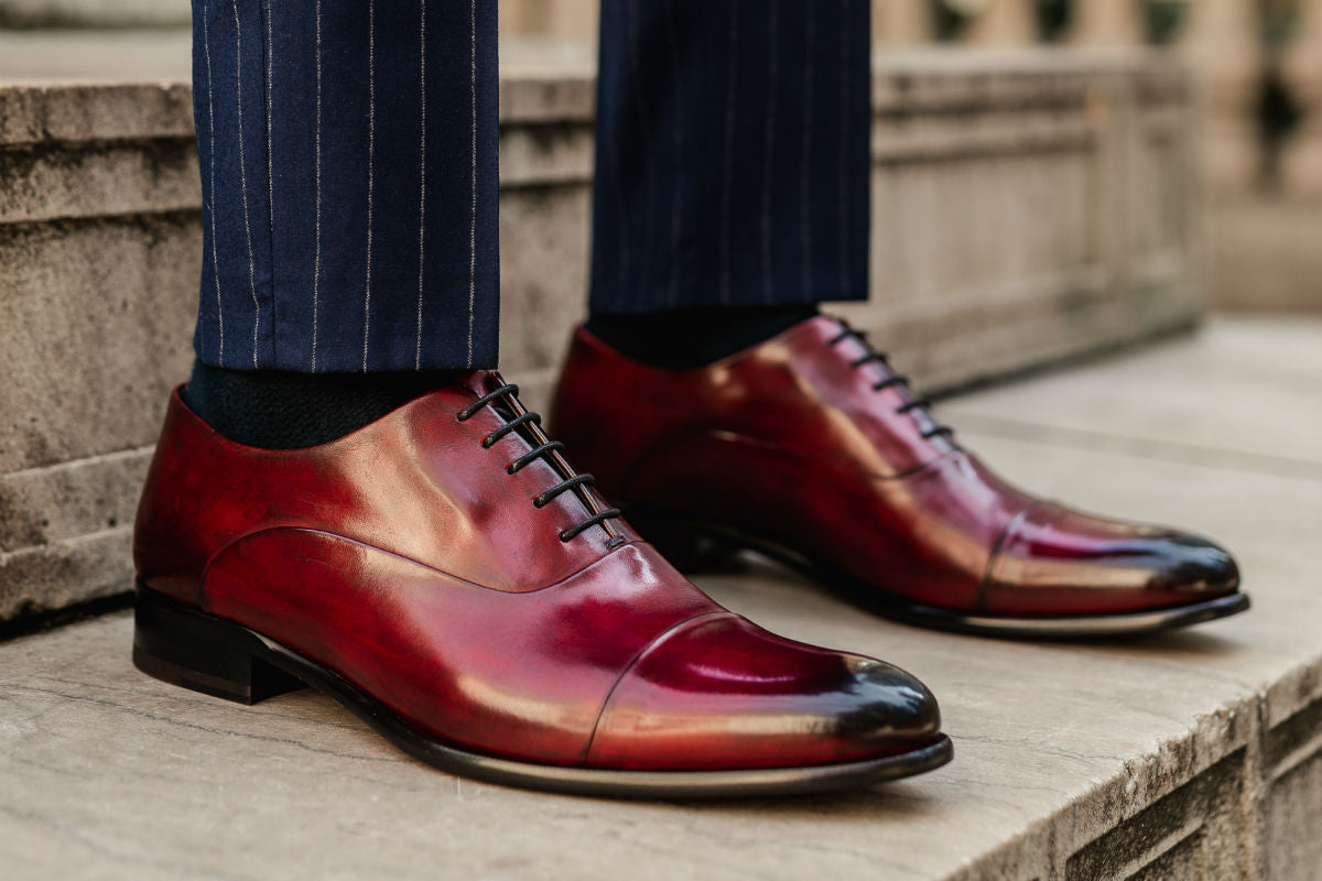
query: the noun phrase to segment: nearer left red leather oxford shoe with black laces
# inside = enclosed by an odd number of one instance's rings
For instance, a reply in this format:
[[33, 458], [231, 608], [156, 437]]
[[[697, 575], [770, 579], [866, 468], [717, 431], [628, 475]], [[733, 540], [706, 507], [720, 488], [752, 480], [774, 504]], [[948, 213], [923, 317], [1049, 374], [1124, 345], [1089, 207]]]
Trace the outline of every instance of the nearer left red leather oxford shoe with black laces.
[[718, 606], [516, 392], [476, 372], [301, 450], [230, 442], [176, 394], [135, 663], [247, 703], [308, 684], [423, 761], [535, 789], [817, 791], [949, 761], [921, 683]]

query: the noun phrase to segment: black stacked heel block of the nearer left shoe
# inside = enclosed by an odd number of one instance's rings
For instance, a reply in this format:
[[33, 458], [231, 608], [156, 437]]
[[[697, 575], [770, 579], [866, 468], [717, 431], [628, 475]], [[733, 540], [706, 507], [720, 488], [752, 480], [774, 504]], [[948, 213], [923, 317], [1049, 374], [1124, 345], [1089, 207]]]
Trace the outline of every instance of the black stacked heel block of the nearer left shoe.
[[134, 666], [148, 676], [241, 704], [305, 687], [262, 660], [264, 651], [264, 643], [239, 625], [139, 586]]

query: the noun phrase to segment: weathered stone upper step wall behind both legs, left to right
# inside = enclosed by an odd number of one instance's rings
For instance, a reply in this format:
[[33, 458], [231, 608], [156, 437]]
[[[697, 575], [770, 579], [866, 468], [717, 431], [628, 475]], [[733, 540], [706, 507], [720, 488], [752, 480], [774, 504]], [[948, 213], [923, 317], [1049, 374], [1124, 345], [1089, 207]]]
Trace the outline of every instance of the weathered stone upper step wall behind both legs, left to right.
[[[0, 85], [0, 621], [128, 586], [132, 487], [190, 359], [186, 36], [77, 40], [0, 34], [0, 81], [136, 71], [134, 46], [165, 79]], [[542, 405], [587, 289], [594, 74], [583, 46], [506, 48], [501, 366]], [[1195, 320], [1178, 66], [925, 52], [875, 82], [873, 301], [846, 312], [924, 386]]]

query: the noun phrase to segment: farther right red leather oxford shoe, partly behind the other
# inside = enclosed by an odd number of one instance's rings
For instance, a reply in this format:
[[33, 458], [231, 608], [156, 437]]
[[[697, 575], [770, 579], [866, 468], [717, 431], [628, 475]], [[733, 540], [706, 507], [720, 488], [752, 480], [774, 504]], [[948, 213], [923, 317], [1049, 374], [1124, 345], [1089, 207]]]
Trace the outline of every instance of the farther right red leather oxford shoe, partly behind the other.
[[1009, 486], [834, 318], [695, 370], [648, 367], [579, 330], [553, 419], [676, 561], [714, 538], [874, 612], [999, 635], [1129, 633], [1248, 608], [1215, 544]]

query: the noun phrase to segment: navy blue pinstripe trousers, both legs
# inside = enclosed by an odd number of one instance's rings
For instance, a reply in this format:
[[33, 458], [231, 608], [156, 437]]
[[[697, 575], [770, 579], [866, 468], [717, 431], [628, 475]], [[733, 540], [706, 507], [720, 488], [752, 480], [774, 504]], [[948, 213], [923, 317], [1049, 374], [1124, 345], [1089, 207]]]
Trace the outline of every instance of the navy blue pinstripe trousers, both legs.
[[[861, 300], [867, 0], [603, 0], [591, 308]], [[193, 0], [194, 347], [494, 367], [496, 0]]]

